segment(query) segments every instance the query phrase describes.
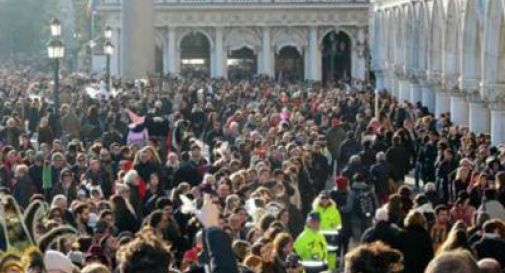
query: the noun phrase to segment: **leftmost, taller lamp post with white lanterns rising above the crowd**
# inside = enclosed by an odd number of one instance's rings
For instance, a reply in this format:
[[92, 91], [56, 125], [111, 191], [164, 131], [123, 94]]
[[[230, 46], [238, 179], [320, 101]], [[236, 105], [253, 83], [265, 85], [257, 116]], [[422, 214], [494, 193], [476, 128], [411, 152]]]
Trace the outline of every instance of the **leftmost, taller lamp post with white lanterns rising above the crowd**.
[[[47, 44], [47, 55], [53, 62], [53, 101], [54, 101], [54, 116], [59, 124], [60, 117], [60, 96], [59, 96], [59, 70], [60, 61], [65, 56], [65, 47], [63, 42], [58, 39], [61, 36], [61, 24], [58, 19], [51, 21], [51, 36], [52, 39]], [[59, 135], [59, 126], [56, 128], [56, 135]]]

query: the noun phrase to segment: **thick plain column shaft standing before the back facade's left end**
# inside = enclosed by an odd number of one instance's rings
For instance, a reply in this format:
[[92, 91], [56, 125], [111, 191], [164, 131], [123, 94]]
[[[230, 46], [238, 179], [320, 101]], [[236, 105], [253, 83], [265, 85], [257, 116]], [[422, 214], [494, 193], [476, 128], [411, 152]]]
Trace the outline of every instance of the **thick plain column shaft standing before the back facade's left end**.
[[121, 67], [126, 79], [154, 72], [154, 7], [152, 0], [122, 0]]

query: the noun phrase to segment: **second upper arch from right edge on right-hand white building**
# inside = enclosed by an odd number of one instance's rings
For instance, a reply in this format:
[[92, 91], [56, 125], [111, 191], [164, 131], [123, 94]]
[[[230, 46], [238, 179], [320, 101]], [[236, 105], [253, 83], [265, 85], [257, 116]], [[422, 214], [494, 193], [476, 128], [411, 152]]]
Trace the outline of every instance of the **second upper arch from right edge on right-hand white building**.
[[482, 67], [481, 25], [476, 0], [468, 0], [463, 14], [463, 35], [461, 44], [461, 76], [464, 81], [462, 88], [478, 88]]

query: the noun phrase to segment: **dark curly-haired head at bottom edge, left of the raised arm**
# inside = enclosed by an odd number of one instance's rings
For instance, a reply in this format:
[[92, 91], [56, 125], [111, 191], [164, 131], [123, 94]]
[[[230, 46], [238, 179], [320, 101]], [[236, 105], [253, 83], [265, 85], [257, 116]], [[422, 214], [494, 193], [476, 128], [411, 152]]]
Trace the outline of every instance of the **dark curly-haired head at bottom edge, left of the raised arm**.
[[122, 246], [117, 259], [124, 273], [166, 273], [172, 260], [170, 248], [144, 228], [130, 243]]

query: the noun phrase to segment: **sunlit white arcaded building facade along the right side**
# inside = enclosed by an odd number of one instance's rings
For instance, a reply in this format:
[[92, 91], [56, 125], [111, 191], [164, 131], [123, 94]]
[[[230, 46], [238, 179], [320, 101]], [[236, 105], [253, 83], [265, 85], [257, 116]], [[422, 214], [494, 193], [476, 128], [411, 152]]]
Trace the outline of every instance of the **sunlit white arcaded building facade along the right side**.
[[504, 143], [504, 2], [372, 0], [377, 87]]

